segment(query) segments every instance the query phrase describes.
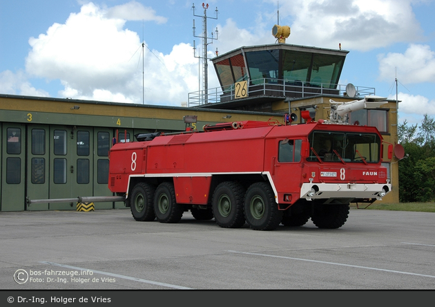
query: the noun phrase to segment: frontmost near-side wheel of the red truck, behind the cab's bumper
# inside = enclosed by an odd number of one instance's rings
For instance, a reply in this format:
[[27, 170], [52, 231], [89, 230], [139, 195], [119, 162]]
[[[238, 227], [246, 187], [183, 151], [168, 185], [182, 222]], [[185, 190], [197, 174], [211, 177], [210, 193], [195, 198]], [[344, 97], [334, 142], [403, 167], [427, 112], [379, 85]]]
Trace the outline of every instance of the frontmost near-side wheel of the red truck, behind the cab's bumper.
[[280, 225], [282, 211], [278, 210], [273, 191], [267, 183], [253, 183], [244, 198], [244, 216], [253, 230], [274, 230]]

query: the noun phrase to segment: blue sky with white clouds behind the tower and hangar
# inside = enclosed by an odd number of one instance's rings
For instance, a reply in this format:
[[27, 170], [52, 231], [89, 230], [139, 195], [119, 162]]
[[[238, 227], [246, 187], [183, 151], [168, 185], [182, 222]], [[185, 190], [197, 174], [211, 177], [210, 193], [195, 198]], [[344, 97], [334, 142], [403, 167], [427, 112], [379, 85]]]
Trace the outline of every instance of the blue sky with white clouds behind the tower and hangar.
[[[206, 5], [209, 5], [208, 8]], [[349, 53], [339, 84], [399, 103], [399, 122], [435, 116], [435, 0], [0, 0], [0, 93], [182, 106], [207, 57], [286, 44]], [[194, 8], [193, 8], [194, 6]], [[193, 25], [195, 24], [195, 32]], [[218, 29], [218, 35], [214, 32]], [[194, 35], [195, 33], [195, 35]], [[196, 50], [194, 53], [194, 41]], [[209, 62], [209, 89], [219, 86]]]

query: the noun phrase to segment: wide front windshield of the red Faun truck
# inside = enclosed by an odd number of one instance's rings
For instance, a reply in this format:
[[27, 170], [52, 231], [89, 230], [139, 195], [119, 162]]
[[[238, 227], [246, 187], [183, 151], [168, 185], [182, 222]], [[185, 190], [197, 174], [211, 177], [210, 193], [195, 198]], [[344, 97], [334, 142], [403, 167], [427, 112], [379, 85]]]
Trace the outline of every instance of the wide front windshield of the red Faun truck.
[[380, 138], [375, 133], [313, 131], [309, 142], [309, 161], [377, 163], [380, 160]]

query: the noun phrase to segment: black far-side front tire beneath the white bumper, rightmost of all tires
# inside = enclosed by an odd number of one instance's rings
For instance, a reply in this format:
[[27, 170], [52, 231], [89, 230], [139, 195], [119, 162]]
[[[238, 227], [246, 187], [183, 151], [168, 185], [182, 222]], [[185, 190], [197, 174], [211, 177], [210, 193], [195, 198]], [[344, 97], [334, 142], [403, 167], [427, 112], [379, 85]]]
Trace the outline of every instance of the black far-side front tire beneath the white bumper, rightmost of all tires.
[[345, 225], [349, 204], [314, 205], [311, 221], [319, 228], [336, 229]]

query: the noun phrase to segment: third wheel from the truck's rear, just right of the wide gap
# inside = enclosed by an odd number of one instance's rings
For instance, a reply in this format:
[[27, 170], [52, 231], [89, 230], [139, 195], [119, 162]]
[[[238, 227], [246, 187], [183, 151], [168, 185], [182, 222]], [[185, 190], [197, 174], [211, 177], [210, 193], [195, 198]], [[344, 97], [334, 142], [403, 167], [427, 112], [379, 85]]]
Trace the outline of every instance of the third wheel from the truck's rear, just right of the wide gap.
[[220, 227], [238, 228], [244, 225], [243, 194], [243, 186], [233, 181], [220, 183], [216, 187], [211, 208]]

